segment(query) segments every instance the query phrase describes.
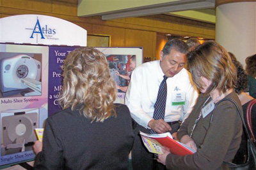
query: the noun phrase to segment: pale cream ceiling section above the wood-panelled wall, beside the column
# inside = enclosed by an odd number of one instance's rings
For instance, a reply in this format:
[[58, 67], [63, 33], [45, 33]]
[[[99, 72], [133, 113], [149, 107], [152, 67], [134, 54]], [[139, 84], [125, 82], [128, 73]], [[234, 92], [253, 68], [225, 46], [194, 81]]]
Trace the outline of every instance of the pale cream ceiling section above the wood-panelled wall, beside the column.
[[167, 14], [215, 24], [214, 0], [79, 0], [78, 17], [102, 20]]

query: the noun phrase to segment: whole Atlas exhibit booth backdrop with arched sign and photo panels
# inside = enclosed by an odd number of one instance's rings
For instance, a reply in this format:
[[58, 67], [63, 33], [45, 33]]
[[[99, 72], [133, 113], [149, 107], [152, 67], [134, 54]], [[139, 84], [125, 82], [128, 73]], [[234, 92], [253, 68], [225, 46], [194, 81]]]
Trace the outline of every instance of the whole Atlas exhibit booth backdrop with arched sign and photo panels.
[[[78, 25], [45, 15], [0, 18], [0, 166], [35, 158], [31, 146], [35, 128], [44, 128], [47, 117], [61, 110], [57, 99], [62, 89], [61, 66], [68, 53], [86, 46], [87, 32]], [[97, 48], [109, 68], [131, 74], [129, 59], [142, 63], [143, 50]], [[127, 85], [113, 74], [119, 85]], [[122, 84], [123, 83], [123, 84]], [[116, 103], [124, 103], [118, 92]]]

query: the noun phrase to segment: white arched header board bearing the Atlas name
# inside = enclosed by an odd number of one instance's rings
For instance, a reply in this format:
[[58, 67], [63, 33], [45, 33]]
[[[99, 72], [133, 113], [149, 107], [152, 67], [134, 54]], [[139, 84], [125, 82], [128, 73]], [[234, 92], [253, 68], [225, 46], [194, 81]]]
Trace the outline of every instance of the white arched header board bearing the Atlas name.
[[0, 43], [86, 46], [87, 31], [72, 22], [46, 15], [0, 18]]

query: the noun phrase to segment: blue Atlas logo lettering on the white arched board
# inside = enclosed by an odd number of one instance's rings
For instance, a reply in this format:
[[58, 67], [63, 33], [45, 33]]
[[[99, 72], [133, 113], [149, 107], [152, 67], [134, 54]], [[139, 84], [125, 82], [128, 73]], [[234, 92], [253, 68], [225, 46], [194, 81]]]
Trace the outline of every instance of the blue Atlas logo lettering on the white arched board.
[[33, 30], [29, 38], [36, 37], [36, 43], [38, 43], [38, 37], [39, 38], [41, 37], [41, 39], [54, 39], [54, 40], [59, 39], [59, 38], [54, 38], [54, 35], [56, 34], [56, 29], [49, 28], [47, 25], [44, 25], [42, 27], [40, 25], [38, 18], [36, 20], [35, 27], [29, 30]]

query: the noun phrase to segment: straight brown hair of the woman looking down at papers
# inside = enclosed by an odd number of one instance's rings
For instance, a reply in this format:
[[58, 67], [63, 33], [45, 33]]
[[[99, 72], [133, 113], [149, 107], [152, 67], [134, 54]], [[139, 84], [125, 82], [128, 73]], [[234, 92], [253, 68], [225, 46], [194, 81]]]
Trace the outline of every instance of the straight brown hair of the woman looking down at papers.
[[187, 58], [189, 70], [198, 89], [203, 87], [201, 76], [212, 81], [205, 95], [215, 89], [220, 93], [234, 89], [237, 79], [236, 67], [228, 52], [216, 41], [206, 41], [197, 46], [195, 50], [188, 53]]

